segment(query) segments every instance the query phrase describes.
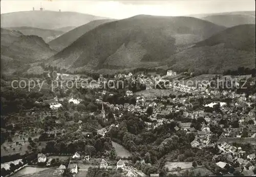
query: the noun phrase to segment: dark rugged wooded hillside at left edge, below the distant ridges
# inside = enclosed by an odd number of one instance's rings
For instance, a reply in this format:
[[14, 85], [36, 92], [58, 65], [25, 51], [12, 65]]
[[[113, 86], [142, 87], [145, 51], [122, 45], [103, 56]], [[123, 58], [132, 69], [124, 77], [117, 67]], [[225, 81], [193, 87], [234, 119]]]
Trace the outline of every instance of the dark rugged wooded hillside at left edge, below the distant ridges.
[[26, 71], [55, 53], [41, 37], [20, 35], [9, 46], [1, 45], [1, 72]]

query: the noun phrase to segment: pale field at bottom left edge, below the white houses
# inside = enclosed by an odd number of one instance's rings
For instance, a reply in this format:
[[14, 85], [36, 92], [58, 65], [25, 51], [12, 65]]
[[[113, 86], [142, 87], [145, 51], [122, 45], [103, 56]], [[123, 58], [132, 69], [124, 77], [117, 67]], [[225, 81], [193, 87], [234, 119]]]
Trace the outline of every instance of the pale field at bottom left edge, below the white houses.
[[22, 170], [18, 171], [12, 177], [52, 177], [57, 176], [53, 175], [53, 173], [56, 171], [54, 168], [36, 168], [36, 167], [25, 167]]

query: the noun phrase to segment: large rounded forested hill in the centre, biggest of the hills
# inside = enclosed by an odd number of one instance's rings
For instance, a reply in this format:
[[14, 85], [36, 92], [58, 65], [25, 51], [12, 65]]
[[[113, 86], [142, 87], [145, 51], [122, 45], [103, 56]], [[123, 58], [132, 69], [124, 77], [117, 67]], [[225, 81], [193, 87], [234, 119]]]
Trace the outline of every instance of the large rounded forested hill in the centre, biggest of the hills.
[[156, 65], [225, 27], [193, 17], [137, 15], [87, 32], [47, 63], [60, 68], [100, 69]]

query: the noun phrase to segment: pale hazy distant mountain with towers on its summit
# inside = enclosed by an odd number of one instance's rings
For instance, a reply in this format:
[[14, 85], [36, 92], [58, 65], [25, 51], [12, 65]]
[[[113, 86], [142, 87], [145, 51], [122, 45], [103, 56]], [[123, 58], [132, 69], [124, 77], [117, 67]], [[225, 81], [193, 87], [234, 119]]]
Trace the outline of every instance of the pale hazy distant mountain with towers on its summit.
[[105, 17], [77, 12], [23, 11], [1, 14], [1, 27], [56, 29], [69, 26], [79, 27], [97, 19], [105, 19]]

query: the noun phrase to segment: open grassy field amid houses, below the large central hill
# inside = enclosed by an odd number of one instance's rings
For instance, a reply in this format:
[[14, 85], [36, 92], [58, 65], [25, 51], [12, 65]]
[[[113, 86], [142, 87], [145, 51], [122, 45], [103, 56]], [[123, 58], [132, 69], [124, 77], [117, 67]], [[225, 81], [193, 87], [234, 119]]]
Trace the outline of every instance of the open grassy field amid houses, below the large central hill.
[[142, 90], [139, 92], [134, 93], [136, 96], [144, 96], [146, 99], [154, 98], [157, 96], [169, 96], [169, 94], [180, 95], [182, 92], [174, 92], [172, 89], [149, 89], [149, 90]]

